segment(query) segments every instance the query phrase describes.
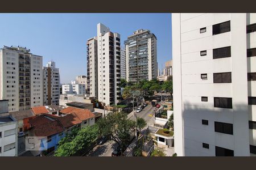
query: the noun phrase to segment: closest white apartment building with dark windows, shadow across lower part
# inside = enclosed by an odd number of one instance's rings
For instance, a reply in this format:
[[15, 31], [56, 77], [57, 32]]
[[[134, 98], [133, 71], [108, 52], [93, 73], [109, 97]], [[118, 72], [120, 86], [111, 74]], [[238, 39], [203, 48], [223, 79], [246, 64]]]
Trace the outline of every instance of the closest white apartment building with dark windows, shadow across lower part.
[[172, 14], [177, 156], [256, 156], [256, 14]]

